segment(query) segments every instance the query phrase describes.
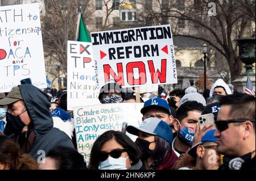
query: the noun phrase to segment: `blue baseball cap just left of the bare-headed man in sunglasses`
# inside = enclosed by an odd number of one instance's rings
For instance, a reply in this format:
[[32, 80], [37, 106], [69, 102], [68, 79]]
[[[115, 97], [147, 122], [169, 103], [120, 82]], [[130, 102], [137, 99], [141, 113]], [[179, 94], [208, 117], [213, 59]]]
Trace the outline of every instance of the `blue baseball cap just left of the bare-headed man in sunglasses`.
[[197, 146], [202, 145], [204, 142], [216, 142], [217, 138], [213, 136], [214, 132], [216, 132], [216, 129], [212, 129], [204, 134], [204, 136], [201, 139], [201, 142], [193, 146], [189, 151], [188, 154], [191, 155], [193, 158], [196, 158], [196, 149]]

